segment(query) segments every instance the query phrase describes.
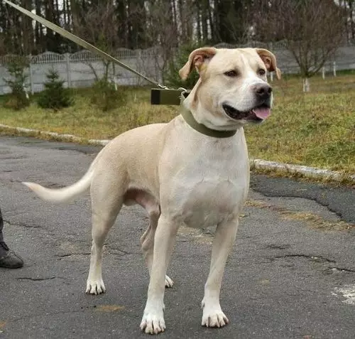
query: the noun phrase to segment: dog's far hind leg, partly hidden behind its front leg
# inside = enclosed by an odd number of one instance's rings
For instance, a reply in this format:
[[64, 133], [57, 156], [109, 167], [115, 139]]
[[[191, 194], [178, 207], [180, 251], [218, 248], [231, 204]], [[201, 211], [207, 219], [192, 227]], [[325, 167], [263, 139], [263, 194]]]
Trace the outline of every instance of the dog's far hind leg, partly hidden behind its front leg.
[[[136, 190], [134, 200], [141, 205], [148, 213], [149, 226], [146, 232], [141, 237], [141, 246], [143, 251], [143, 257], [146, 260], [149, 275], [151, 275], [151, 269], [153, 264], [153, 249], [154, 249], [154, 237], [155, 230], [158, 226], [158, 220], [160, 217], [160, 205], [149, 193], [141, 190]], [[165, 287], [173, 287], [174, 281], [169, 276], [165, 275]]]

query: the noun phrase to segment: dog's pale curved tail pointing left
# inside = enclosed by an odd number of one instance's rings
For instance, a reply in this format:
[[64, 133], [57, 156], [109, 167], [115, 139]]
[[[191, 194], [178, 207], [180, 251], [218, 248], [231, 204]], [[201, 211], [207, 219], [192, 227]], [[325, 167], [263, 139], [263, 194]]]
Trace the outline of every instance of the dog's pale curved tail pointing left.
[[92, 176], [94, 174], [94, 163], [89, 167], [87, 173], [74, 183], [73, 185], [64, 188], [45, 188], [38, 183], [23, 183], [28, 188], [33, 190], [42, 200], [49, 201], [50, 203], [70, 203], [78, 198], [82, 193], [89, 189]]

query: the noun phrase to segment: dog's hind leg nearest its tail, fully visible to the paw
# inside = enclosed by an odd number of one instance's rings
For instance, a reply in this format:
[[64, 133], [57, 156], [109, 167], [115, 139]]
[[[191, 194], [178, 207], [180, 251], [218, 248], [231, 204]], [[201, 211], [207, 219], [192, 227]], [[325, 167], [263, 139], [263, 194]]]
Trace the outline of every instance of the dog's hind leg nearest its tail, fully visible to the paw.
[[92, 252], [87, 294], [101, 294], [106, 291], [102, 280], [102, 249], [107, 233], [123, 205], [124, 197], [118, 187], [120, 186], [109, 182], [109, 178], [104, 182], [101, 180], [92, 183]]

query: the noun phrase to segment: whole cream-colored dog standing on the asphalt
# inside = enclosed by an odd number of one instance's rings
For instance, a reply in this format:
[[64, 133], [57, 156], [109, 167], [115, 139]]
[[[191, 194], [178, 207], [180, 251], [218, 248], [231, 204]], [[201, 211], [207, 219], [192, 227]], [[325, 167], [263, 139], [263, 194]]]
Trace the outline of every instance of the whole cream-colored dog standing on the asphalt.
[[280, 77], [275, 56], [257, 48], [199, 48], [180, 70], [182, 79], [193, 68], [200, 73], [200, 80], [183, 105], [212, 134], [220, 131], [220, 137], [192, 128], [179, 115], [168, 124], [151, 124], [117, 136], [100, 151], [82, 179], [67, 188], [24, 183], [53, 203], [68, 202], [91, 188], [89, 294], [106, 290], [102, 247], [122, 205], [139, 204], [146, 209], [150, 223], [141, 245], [151, 280], [141, 329], [152, 334], [165, 330], [164, 288], [173, 286], [165, 274], [182, 224], [198, 228], [217, 225], [204, 286], [202, 325], [222, 327], [228, 323], [219, 292], [249, 190], [243, 126], [261, 122], [270, 114], [272, 93], [266, 70]]

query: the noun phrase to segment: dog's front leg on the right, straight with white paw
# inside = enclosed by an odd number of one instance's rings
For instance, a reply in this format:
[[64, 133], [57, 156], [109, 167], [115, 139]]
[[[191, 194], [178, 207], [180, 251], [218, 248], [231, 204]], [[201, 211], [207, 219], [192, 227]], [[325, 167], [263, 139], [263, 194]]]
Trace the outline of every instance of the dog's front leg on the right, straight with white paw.
[[229, 323], [219, 304], [219, 292], [226, 259], [233, 247], [237, 229], [238, 219], [235, 219], [218, 225], [214, 235], [211, 266], [202, 300], [202, 325], [207, 327], [222, 327]]

